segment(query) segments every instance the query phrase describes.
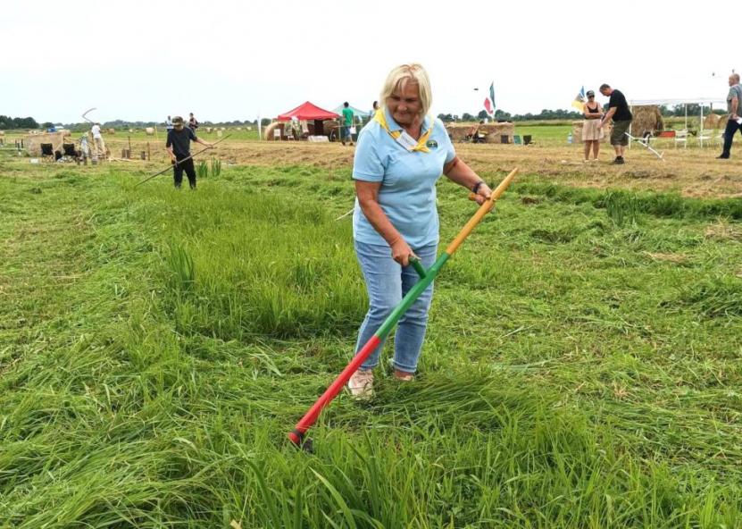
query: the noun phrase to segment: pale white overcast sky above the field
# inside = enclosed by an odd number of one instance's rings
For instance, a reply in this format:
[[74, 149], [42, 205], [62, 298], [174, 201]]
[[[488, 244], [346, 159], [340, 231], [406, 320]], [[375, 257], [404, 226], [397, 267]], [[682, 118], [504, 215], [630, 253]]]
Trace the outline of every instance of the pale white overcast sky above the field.
[[15, 1], [0, 15], [0, 114], [79, 122], [95, 106], [101, 122], [219, 122], [306, 100], [367, 109], [410, 62], [429, 71], [434, 113], [478, 113], [493, 80], [510, 113], [568, 108], [603, 82], [629, 99], [723, 99], [742, 70], [739, 13], [717, 0]]

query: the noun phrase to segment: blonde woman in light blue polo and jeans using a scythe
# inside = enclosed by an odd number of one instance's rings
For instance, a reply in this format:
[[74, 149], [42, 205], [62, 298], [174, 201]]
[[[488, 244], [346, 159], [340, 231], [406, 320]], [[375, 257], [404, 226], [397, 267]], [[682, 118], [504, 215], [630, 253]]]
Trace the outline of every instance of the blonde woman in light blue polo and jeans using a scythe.
[[[353, 166], [354, 246], [370, 304], [356, 350], [418, 281], [410, 257], [418, 257], [426, 268], [436, 260], [441, 174], [473, 191], [479, 204], [492, 193], [456, 156], [443, 123], [429, 115], [430, 82], [420, 64], [390, 71], [379, 101], [379, 110], [358, 137]], [[432, 294], [430, 285], [399, 321], [394, 344], [398, 380], [413, 380], [417, 370]], [[373, 394], [371, 370], [383, 347], [382, 342], [348, 382], [355, 397]]]

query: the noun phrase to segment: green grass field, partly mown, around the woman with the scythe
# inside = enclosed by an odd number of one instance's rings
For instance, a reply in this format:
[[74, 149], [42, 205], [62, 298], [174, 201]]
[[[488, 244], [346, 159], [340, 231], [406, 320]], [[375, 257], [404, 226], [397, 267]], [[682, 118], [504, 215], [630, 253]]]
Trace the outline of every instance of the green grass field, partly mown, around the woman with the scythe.
[[738, 199], [526, 172], [439, 276], [417, 381], [339, 396], [310, 456], [286, 433], [366, 309], [350, 168], [0, 160], [0, 527], [742, 526]]

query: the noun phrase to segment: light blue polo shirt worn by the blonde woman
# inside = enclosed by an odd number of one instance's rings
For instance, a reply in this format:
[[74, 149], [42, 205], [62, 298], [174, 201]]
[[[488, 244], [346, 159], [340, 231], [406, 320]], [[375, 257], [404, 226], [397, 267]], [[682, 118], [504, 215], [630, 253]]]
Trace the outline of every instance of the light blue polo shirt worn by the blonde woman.
[[[402, 130], [386, 108], [384, 112], [389, 130]], [[354, 180], [381, 182], [379, 206], [413, 249], [438, 244], [436, 181], [443, 173], [444, 164], [456, 155], [443, 122], [437, 118], [426, 116], [421, 134], [428, 130], [431, 122], [429, 153], [408, 151], [376, 121], [363, 127], [355, 147]], [[388, 246], [366, 219], [357, 197], [353, 236], [365, 244]]]

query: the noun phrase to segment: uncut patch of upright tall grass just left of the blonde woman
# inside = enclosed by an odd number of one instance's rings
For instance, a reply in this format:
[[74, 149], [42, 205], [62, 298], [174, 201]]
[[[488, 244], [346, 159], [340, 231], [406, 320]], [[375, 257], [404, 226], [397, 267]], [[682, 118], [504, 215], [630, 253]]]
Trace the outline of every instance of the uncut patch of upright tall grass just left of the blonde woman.
[[193, 295], [172, 306], [180, 332], [285, 338], [351, 332], [363, 319], [348, 226], [332, 223], [320, 207], [254, 194], [236, 201], [225, 190], [184, 200], [168, 216], [188, 219], [181, 242], [188, 250], [169, 254], [179, 278], [174, 290], [184, 290], [194, 267], [200, 271]]

